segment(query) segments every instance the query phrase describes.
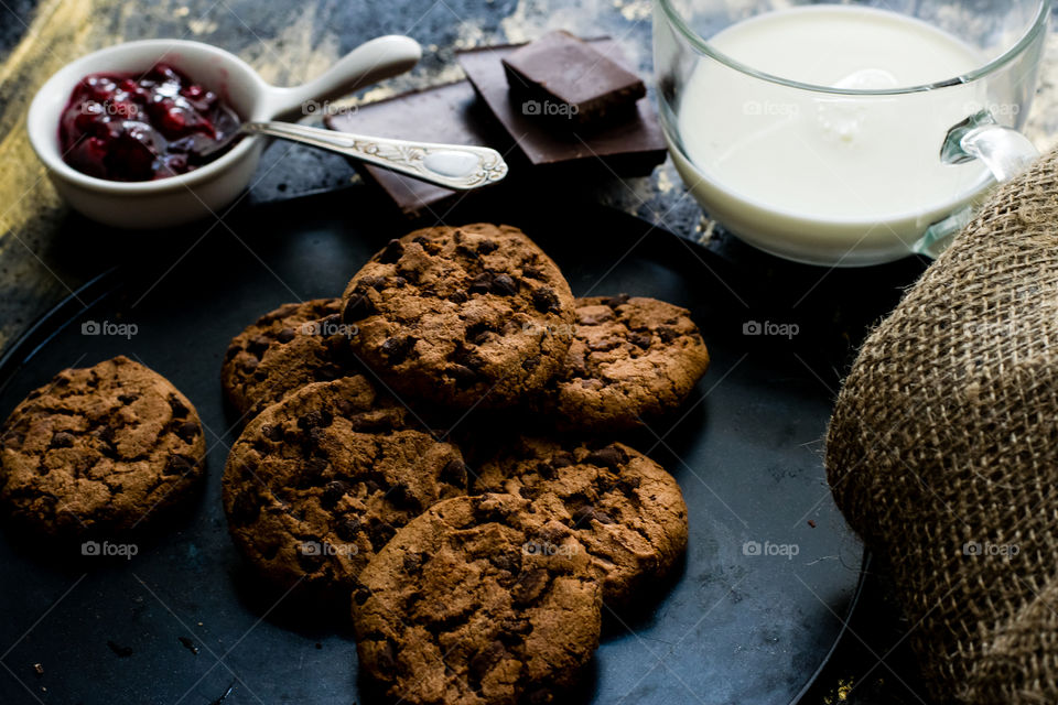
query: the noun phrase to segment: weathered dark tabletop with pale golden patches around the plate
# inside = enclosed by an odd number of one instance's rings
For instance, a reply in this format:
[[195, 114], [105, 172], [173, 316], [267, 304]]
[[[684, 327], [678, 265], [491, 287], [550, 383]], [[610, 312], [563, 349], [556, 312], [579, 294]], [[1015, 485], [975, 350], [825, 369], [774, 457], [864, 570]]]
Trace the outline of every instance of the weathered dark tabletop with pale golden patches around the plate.
[[[108, 265], [108, 253], [94, 252], [90, 242], [78, 239], [85, 223], [58, 203], [24, 137], [23, 116], [35, 87], [78, 55], [134, 39], [195, 39], [235, 52], [282, 85], [311, 78], [379, 34], [419, 40], [424, 48], [420, 66], [358, 97], [373, 100], [460, 79], [457, 48], [526, 41], [553, 28], [608, 34], [649, 75], [650, 15], [649, 0], [0, 0], [0, 347], [9, 347], [34, 319]], [[1052, 77], [1058, 70], [1048, 63], [1030, 120], [1030, 134], [1041, 148], [1058, 132], [1056, 111], [1049, 109], [1056, 93]], [[244, 207], [345, 188], [349, 217], [356, 217], [356, 208], [367, 207], [369, 187], [342, 158], [276, 143]], [[842, 289], [856, 294], [862, 283], [848, 273], [791, 267], [733, 240], [702, 215], [671, 163], [649, 177], [601, 180], [580, 188], [585, 199], [638, 215], [703, 243], [744, 272], [794, 288], [794, 300], [828, 280], [839, 295]], [[905, 261], [868, 275], [868, 285], [882, 290], [874, 317], [885, 314], [885, 306], [925, 265]], [[842, 365], [850, 361], [861, 334], [850, 334], [834, 375], [820, 378], [828, 393], [835, 393]], [[928, 702], [908, 652], [909, 628], [885, 574], [870, 574], [844, 639], [803, 702]], [[0, 644], [0, 650], [7, 647]], [[10, 675], [3, 671], [0, 677]]]

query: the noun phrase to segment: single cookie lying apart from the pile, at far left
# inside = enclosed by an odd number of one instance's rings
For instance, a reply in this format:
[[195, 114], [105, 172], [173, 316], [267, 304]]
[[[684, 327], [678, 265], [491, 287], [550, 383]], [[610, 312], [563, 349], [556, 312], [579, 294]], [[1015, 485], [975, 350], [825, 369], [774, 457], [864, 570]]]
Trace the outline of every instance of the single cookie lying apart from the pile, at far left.
[[117, 536], [190, 495], [206, 444], [195, 408], [126, 357], [67, 369], [3, 425], [0, 503], [56, 536]]

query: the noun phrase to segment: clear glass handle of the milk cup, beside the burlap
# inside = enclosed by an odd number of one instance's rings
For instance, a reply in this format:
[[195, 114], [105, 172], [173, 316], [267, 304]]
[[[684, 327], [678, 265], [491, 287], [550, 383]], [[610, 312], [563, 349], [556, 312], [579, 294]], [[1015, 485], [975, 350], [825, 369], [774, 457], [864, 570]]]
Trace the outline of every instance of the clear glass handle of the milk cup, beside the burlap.
[[[940, 149], [940, 160], [944, 164], [963, 164], [979, 159], [1001, 184], [1028, 169], [1038, 156], [1039, 151], [1027, 137], [1000, 124], [987, 110], [970, 116], [951, 128]], [[914, 251], [936, 258], [948, 248], [951, 239], [969, 225], [974, 210], [974, 206], [969, 205], [935, 223], [915, 243]]]

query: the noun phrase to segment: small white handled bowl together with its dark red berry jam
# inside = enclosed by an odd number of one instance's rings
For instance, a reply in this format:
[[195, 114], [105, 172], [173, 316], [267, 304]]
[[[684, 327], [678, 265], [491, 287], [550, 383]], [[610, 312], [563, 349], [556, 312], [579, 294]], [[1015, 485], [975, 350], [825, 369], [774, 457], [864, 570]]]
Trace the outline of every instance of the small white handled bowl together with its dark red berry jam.
[[153, 229], [219, 218], [245, 193], [264, 147], [255, 135], [229, 143], [240, 123], [311, 115], [409, 70], [420, 54], [407, 36], [381, 36], [314, 80], [277, 87], [209, 44], [129, 42], [45, 82], [26, 131], [60, 196], [93, 220]]

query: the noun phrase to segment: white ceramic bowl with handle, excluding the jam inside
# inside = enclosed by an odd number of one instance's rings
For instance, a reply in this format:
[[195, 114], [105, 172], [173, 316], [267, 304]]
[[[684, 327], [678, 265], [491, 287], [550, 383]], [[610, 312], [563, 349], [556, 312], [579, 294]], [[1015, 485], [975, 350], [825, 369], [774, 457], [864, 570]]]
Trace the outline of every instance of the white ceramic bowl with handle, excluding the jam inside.
[[407, 36], [380, 36], [361, 44], [307, 84], [278, 88], [246, 62], [199, 42], [148, 40], [119, 44], [67, 64], [37, 91], [30, 106], [30, 143], [60, 195], [93, 220], [129, 229], [150, 229], [222, 215], [250, 183], [264, 147], [244, 138], [231, 151], [193, 172], [149, 182], [115, 182], [83, 174], [63, 161], [60, 116], [77, 83], [95, 73], [144, 72], [166, 63], [215, 91], [242, 120], [298, 118], [357, 88], [409, 70], [421, 56]]

